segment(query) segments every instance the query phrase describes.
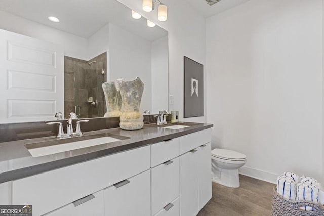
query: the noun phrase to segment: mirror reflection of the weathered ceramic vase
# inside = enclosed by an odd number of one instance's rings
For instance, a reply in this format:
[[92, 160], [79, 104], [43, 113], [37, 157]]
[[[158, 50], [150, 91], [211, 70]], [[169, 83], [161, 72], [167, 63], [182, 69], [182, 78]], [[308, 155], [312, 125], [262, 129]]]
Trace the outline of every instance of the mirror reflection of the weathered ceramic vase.
[[121, 115], [121, 100], [120, 91], [116, 89], [114, 81], [102, 83], [103, 93], [106, 98], [107, 112], [103, 117], [119, 117]]

